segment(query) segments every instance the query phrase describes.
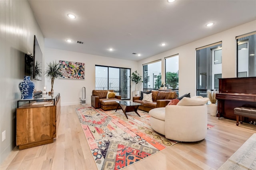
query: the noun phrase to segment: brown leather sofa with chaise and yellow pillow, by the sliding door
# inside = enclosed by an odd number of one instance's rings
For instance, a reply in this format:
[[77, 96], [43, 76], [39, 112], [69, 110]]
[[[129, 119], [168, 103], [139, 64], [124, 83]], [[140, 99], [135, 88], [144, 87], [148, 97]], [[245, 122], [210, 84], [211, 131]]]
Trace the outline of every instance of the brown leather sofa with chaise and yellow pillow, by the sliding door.
[[107, 99], [107, 94], [114, 92], [114, 90], [92, 90], [91, 104], [95, 109], [101, 108], [103, 110], [112, 110], [118, 108], [119, 104], [116, 101], [121, 100], [121, 96]]

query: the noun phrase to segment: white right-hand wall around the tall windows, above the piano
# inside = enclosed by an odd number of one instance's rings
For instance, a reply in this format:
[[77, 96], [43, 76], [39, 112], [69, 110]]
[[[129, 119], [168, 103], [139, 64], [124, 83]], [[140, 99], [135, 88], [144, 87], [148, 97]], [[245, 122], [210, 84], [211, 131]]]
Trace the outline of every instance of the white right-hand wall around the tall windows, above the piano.
[[161, 59], [164, 82], [164, 57], [179, 54], [179, 94], [190, 93], [195, 96], [196, 48], [222, 41], [222, 78], [236, 77], [236, 36], [252, 31], [256, 31], [256, 20], [141, 60], [138, 62], [138, 71], [142, 75], [142, 64]]

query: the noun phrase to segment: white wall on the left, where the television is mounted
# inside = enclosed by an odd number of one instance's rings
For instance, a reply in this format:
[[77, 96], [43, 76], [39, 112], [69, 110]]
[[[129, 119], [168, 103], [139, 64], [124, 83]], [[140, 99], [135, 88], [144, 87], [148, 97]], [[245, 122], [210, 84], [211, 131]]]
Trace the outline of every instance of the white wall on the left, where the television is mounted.
[[[0, 0], [0, 162], [16, 146], [16, 108], [21, 98], [24, 53], [33, 53], [34, 35], [44, 53], [44, 38], [28, 1]], [[34, 80], [36, 88], [43, 81]], [[6, 139], [2, 142], [2, 132]]]

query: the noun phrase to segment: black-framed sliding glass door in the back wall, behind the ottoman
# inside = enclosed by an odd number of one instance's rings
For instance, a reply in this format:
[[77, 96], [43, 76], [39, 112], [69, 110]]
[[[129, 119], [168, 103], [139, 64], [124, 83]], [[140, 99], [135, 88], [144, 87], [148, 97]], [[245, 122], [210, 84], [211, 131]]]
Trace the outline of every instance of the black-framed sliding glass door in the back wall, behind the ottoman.
[[122, 100], [130, 99], [130, 68], [95, 66], [95, 90], [114, 90]]

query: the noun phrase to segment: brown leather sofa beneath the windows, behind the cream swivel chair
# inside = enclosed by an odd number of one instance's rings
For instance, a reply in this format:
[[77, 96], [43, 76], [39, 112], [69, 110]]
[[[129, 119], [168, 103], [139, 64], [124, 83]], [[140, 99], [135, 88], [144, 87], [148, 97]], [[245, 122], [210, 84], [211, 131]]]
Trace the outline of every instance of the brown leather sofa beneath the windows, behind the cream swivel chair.
[[150, 111], [151, 109], [157, 107], [165, 107], [172, 100], [177, 98], [178, 95], [174, 91], [152, 91], [152, 101], [143, 101], [140, 100], [140, 96], [133, 96], [132, 101], [136, 103], [140, 103], [141, 105], [138, 109], [143, 111]]

